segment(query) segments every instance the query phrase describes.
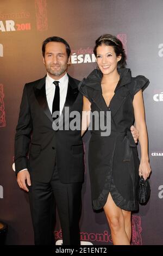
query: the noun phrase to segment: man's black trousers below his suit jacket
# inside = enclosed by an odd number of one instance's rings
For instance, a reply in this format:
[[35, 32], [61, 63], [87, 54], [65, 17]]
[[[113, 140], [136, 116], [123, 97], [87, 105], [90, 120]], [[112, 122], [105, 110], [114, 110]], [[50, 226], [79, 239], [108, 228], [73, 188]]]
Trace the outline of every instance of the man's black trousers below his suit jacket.
[[55, 207], [62, 229], [63, 245], [80, 245], [79, 220], [82, 210], [82, 182], [64, 184], [57, 166], [48, 183], [32, 180], [29, 187], [35, 245], [54, 245]]

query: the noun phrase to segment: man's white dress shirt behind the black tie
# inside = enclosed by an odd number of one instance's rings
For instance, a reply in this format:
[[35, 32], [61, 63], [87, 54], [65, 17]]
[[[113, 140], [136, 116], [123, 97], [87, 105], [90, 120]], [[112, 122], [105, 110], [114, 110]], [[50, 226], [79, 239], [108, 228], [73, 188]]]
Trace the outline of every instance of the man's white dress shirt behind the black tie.
[[66, 95], [67, 95], [67, 88], [68, 88], [68, 75], [67, 73], [61, 77], [59, 80], [54, 80], [48, 74], [46, 76], [46, 98], [48, 102], [48, 107], [52, 113], [53, 107], [53, 99], [55, 94], [55, 84], [54, 81], [59, 81], [59, 93], [60, 93], [60, 114], [62, 109], [64, 108]]

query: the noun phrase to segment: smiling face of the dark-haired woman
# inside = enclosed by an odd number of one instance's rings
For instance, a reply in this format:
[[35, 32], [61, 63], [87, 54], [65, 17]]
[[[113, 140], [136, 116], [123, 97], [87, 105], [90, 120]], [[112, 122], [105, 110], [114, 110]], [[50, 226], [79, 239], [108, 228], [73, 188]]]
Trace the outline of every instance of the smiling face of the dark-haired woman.
[[97, 47], [97, 64], [103, 75], [113, 74], [117, 72], [117, 62], [121, 59], [116, 56], [114, 48], [108, 45], [100, 45]]

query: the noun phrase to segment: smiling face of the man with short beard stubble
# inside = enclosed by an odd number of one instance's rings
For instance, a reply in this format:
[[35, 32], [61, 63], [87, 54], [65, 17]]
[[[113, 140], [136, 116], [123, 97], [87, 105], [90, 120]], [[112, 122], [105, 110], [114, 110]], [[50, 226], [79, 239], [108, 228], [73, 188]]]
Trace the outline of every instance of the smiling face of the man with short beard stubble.
[[70, 58], [67, 56], [66, 46], [62, 42], [48, 42], [45, 47], [45, 64], [48, 75], [59, 80], [65, 75]]

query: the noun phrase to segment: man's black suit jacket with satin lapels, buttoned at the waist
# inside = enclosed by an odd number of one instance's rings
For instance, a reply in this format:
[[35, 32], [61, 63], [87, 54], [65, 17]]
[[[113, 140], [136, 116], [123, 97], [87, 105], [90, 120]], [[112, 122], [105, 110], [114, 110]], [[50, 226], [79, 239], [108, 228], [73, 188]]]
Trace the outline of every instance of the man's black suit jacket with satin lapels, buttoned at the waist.
[[[45, 81], [46, 76], [24, 86], [15, 135], [16, 174], [28, 168], [33, 179], [48, 182], [57, 161], [61, 182], [81, 182], [84, 176], [81, 131], [53, 130]], [[83, 96], [78, 91], [78, 83], [78, 80], [68, 75], [67, 96], [62, 114], [65, 113], [65, 107], [70, 107], [70, 112], [80, 113], [81, 120]], [[61, 121], [65, 123], [65, 119]]]

